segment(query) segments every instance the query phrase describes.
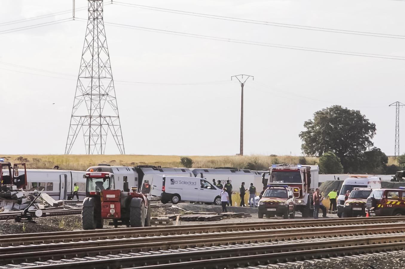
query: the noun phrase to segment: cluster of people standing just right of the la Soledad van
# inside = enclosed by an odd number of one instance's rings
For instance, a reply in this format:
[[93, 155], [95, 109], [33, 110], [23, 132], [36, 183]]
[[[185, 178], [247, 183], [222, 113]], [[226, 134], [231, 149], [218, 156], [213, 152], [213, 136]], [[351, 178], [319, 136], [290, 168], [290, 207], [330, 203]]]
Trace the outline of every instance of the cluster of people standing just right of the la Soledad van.
[[[221, 192], [221, 203], [222, 203], [222, 212], [228, 212], [226, 210], [226, 206], [232, 206], [232, 184], [230, 183], [230, 180], [228, 179], [226, 181], [225, 186], [222, 185], [221, 181], [218, 179], [217, 182], [215, 182], [215, 179], [212, 180], [213, 184], [220, 190]], [[255, 197], [256, 197], [256, 188], [253, 186], [253, 183], [250, 184], [249, 189], [245, 188], [245, 182], [242, 182], [242, 185], [239, 187], [239, 195], [241, 197], [241, 203], [239, 206], [245, 207], [245, 193], [246, 191], [249, 192], [249, 201], [248, 203], [250, 204], [250, 200], [252, 199], [252, 204], [253, 207], [256, 207], [255, 203]]]

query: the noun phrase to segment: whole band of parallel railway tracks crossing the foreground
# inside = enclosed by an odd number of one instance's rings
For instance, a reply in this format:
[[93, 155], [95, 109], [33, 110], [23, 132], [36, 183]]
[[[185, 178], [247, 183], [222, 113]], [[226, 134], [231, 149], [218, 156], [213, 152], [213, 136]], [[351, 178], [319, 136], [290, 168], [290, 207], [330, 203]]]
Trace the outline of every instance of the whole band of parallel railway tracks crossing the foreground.
[[[352, 218], [334, 222], [336, 219], [4, 235], [0, 236], [3, 246], [0, 261], [4, 268], [19, 263], [27, 268], [88, 269], [213, 268], [211, 265], [215, 263], [211, 260], [216, 260], [218, 265], [232, 268], [247, 266], [249, 260], [257, 265], [278, 263], [286, 258], [302, 260], [405, 247], [405, 218]], [[80, 235], [74, 236], [75, 233]], [[65, 238], [69, 236], [75, 238], [68, 242]], [[55, 240], [49, 242], [48, 237]], [[17, 246], [17, 242], [24, 240], [28, 241]], [[336, 250], [336, 254], [329, 248]], [[292, 256], [292, 252], [297, 253]]]

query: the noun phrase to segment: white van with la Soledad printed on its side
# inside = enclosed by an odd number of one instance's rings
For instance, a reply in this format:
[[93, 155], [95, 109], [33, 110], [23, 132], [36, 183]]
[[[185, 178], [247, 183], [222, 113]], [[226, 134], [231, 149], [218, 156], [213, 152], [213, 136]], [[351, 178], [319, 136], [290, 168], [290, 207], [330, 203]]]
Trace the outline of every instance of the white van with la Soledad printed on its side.
[[221, 190], [203, 178], [164, 175], [162, 185], [162, 203], [190, 201], [221, 205]]

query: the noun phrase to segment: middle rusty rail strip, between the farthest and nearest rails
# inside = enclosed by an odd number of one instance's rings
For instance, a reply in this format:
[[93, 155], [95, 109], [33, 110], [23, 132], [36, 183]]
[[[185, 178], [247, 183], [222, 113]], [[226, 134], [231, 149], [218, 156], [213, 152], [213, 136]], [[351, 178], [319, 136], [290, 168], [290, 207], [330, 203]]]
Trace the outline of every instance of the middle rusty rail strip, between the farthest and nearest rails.
[[[0, 263], [23, 263], [55, 259], [68, 259], [75, 257], [119, 254], [128, 252], [145, 252], [168, 250], [178, 248], [196, 248], [205, 246], [220, 246], [223, 244], [243, 244], [259, 242], [277, 242], [298, 239], [313, 239], [353, 235], [381, 234], [381, 226], [356, 227], [342, 230], [328, 230], [321, 228], [319, 231], [280, 231], [283, 233], [269, 233], [268, 231], [247, 231], [221, 234], [177, 235], [169, 237], [151, 237], [136, 239], [118, 239], [90, 242], [72, 242], [50, 245], [35, 245], [1, 248]], [[388, 232], [405, 232], [403, 224], [384, 226]], [[405, 236], [405, 235], [404, 235]]]

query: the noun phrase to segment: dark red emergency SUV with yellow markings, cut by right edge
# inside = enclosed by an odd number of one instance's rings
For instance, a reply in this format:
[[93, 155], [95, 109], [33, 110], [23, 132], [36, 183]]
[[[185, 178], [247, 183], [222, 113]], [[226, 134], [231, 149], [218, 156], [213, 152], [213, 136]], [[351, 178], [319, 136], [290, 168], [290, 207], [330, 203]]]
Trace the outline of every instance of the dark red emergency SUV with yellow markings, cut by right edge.
[[366, 202], [369, 216], [405, 216], [405, 187], [375, 189]]

